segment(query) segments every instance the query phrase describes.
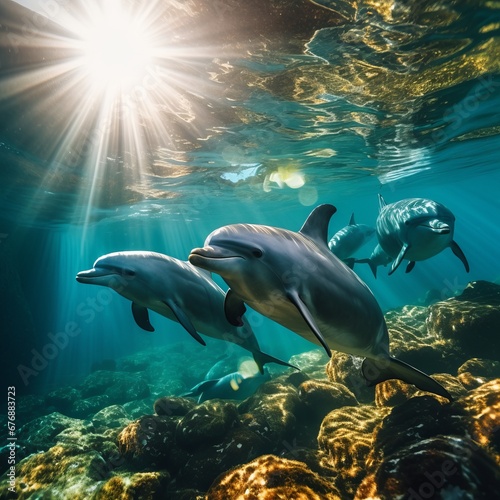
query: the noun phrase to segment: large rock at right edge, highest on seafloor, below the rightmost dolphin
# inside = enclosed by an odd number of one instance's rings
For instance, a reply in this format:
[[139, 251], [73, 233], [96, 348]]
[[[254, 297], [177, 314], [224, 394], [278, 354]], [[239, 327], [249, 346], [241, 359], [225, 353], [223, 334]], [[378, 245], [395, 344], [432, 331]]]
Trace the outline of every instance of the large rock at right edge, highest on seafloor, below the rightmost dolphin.
[[474, 281], [461, 295], [429, 307], [429, 333], [472, 358], [500, 361], [500, 286]]

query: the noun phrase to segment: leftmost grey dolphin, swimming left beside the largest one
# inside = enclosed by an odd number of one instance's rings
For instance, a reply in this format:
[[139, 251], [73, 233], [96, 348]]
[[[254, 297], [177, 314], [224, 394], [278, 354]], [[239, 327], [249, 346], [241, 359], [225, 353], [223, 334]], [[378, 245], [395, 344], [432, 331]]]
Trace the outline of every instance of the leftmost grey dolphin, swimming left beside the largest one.
[[199, 333], [250, 351], [261, 372], [265, 363], [291, 366], [263, 353], [246, 321], [234, 326], [226, 320], [223, 290], [209, 273], [189, 262], [155, 252], [115, 252], [99, 257], [93, 269], [79, 272], [76, 280], [107, 286], [132, 301], [133, 317], [143, 330], [154, 331], [151, 309], [179, 322], [202, 345], [206, 343]]

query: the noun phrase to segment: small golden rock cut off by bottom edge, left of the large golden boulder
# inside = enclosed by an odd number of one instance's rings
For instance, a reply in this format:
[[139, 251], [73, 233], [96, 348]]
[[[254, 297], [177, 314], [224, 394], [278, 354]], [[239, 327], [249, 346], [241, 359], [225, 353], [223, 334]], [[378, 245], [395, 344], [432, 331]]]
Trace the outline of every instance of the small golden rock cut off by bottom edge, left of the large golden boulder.
[[167, 471], [126, 473], [114, 476], [97, 491], [99, 500], [170, 498], [166, 489], [170, 482]]

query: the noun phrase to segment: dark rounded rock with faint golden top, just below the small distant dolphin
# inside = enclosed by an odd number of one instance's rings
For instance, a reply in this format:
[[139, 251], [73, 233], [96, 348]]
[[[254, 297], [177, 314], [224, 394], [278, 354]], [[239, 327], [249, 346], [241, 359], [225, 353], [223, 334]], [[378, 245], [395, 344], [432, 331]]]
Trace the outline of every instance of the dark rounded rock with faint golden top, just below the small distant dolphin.
[[177, 443], [186, 450], [223, 441], [228, 430], [239, 422], [233, 403], [213, 399], [190, 410], [177, 425]]

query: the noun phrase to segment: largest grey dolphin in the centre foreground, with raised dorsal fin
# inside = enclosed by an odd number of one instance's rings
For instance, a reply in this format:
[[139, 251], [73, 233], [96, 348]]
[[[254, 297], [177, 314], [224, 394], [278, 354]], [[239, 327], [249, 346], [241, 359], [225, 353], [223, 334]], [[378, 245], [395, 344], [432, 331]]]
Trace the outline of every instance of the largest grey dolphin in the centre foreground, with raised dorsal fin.
[[189, 262], [220, 274], [230, 286], [227, 318], [241, 324], [245, 303], [307, 340], [363, 356], [372, 384], [398, 378], [448, 399], [435, 380], [389, 355], [389, 335], [375, 297], [329, 250], [328, 223], [336, 209], [315, 208], [297, 232], [255, 224], [213, 231]]

